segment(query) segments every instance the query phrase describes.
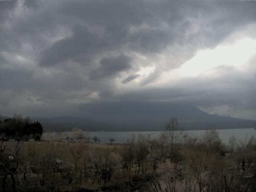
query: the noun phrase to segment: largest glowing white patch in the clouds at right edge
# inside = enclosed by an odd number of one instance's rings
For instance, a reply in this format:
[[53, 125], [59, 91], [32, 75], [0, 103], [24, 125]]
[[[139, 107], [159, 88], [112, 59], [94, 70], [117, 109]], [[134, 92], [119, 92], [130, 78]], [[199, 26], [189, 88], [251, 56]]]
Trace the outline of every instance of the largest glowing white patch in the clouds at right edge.
[[222, 65], [241, 68], [255, 53], [256, 40], [244, 38], [234, 44], [217, 46], [213, 50], [200, 50], [176, 72], [180, 76], [198, 76]]

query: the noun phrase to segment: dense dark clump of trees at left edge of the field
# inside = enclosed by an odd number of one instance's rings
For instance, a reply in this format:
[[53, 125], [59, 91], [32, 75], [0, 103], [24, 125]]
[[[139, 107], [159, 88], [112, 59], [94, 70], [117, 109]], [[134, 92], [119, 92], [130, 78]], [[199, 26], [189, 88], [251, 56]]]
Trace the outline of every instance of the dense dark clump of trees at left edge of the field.
[[15, 140], [40, 140], [43, 128], [40, 122], [31, 122], [29, 117], [14, 115], [13, 118], [0, 120], [1, 138]]

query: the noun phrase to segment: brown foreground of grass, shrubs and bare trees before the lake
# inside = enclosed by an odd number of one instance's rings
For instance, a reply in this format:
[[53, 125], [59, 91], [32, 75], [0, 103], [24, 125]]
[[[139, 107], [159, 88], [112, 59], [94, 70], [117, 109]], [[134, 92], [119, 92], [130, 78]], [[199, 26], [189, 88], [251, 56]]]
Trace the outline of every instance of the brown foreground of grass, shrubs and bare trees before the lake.
[[[2, 128], [2, 127], [1, 127]], [[158, 138], [132, 135], [126, 144], [102, 144], [74, 129], [49, 141], [0, 141], [0, 191], [251, 192], [256, 190], [256, 138], [218, 130], [192, 137], [171, 118]], [[6, 136], [6, 135], [5, 135]]]

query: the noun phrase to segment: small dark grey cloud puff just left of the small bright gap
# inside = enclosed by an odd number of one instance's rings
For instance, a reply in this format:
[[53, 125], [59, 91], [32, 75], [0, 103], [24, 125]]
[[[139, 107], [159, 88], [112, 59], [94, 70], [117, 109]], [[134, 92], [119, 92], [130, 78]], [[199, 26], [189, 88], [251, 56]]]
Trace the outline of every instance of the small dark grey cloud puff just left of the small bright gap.
[[121, 54], [117, 57], [104, 57], [100, 60], [100, 66], [90, 73], [91, 80], [99, 80], [115, 74], [130, 70], [132, 68], [131, 58]]

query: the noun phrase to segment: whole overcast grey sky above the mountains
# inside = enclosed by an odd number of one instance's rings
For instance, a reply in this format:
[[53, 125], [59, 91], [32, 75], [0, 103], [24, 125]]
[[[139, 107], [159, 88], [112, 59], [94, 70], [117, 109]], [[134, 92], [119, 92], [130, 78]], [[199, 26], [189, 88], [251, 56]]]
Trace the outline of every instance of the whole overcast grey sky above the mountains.
[[106, 101], [256, 120], [256, 1], [0, 1], [0, 115]]

